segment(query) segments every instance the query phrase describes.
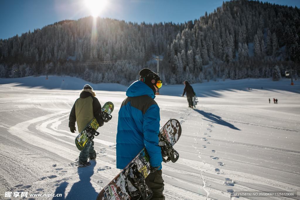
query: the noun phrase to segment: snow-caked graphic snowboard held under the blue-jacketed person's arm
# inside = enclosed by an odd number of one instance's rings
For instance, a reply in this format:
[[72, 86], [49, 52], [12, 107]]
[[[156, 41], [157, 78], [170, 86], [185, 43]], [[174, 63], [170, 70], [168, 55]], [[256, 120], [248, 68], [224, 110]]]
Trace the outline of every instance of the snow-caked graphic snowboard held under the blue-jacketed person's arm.
[[[176, 119], [170, 119], [161, 127], [158, 145], [161, 146], [164, 162], [171, 160], [175, 163], [178, 160], [179, 154], [173, 149], [173, 145], [179, 140], [180, 135], [181, 125]], [[150, 170], [149, 155], [146, 148], [143, 148], [122, 172], [101, 190], [97, 200], [138, 199], [141, 193], [143, 194], [140, 199], [151, 199], [152, 191], [144, 181]]]

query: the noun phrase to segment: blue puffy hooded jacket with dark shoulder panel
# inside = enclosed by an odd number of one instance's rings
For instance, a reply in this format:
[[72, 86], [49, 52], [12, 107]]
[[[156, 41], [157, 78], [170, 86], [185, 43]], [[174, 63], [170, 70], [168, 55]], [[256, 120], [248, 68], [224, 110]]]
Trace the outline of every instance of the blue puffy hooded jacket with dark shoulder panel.
[[151, 166], [161, 169], [160, 115], [153, 90], [142, 81], [136, 81], [129, 86], [126, 96], [119, 111], [117, 168], [124, 169], [146, 147]]

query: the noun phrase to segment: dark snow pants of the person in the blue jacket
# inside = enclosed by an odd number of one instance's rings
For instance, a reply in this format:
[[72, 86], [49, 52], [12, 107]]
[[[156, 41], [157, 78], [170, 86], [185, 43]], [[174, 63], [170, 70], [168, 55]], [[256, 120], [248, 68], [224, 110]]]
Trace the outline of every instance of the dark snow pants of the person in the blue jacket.
[[150, 173], [145, 179], [145, 183], [148, 187], [151, 188], [153, 196], [151, 200], [164, 200], [165, 196], [163, 195], [164, 191], [164, 180], [161, 176], [161, 170]]

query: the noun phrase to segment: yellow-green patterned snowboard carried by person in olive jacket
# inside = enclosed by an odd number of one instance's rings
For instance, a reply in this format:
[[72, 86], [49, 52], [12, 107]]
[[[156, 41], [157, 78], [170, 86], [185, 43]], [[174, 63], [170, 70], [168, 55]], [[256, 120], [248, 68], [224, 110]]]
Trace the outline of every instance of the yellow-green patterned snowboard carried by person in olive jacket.
[[[111, 119], [111, 113], [113, 112], [114, 105], [112, 102], [106, 102], [101, 110], [101, 115], [104, 121]], [[75, 138], [75, 144], [79, 151], [82, 151], [88, 140], [93, 139], [94, 135], [98, 136], [99, 133], [96, 131], [99, 128], [98, 121], [94, 117], [86, 127], [79, 133]]]

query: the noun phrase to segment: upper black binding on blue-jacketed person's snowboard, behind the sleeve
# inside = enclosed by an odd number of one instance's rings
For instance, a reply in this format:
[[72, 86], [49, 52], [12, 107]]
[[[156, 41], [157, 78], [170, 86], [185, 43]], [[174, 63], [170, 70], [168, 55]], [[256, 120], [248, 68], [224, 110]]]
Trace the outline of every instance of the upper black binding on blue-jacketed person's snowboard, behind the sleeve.
[[[175, 163], [179, 159], [179, 153], [173, 148], [171, 143], [164, 138], [164, 136], [159, 134], [158, 137], [160, 141], [165, 143], [164, 146], [161, 146], [161, 155], [163, 156], [163, 161], [167, 163], [171, 160], [172, 163]], [[165, 159], [165, 157], [167, 157], [167, 159]]]

